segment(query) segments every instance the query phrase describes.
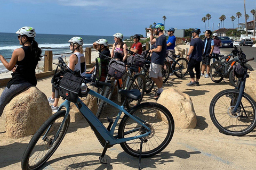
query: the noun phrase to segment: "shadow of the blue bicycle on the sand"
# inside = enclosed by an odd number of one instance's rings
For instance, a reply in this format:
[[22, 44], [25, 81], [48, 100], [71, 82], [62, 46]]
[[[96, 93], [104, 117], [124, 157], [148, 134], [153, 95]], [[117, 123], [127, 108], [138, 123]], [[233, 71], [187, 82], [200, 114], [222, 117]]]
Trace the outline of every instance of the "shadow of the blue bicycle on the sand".
[[[200, 151], [187, 152], [186, 150], [176, 150], [174, 153], [161, 152], [150, 158], [141, 159], [141, 169], [143, 168], [158, 168], [158, 165], [164, 165], [166, 163], [174, 162], [174, 157], [181, 159], [188, 159], [193, 154], [201, 154]], [[117, 155], [117, 158], [111, 159], [108, 155], [105, 155], [107, 164], [101, 164], [99, 162], [100, 153], [82, 153], [62, 156], [55, 158], [45, 163], [40, 169], [121, 169], [129, 166], [131, 168], [138, 168], [139, 158], [135, 158], [121, 152]], [[113, 168], [114, 166], [114, 168]]]

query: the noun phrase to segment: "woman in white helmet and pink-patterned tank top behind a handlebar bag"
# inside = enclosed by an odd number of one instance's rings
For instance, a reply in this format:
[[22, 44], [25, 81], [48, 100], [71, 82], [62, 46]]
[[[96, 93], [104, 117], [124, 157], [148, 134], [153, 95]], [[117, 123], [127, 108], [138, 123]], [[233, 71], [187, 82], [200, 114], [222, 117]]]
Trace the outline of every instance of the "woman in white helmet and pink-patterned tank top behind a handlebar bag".
[[111, 57], [116, 60], [126, 62], [127, 59], [127, 45], [123, 42], [124, 36], [122, 33], [115, 33], [114, 35], [115, 44], [111, 51]]

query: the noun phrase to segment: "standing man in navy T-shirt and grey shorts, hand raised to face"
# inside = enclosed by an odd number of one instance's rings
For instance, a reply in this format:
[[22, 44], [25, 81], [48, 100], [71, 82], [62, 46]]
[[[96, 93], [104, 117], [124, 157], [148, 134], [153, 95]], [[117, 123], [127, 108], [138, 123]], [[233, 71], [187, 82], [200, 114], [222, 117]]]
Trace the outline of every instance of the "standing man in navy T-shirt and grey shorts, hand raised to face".
[[155, 42], [155, 48], [151, 49], [151, 64], [149, 68], [149, 76], [153, 79], [158, 87], [158, 91], [155, 95], [156, 99], [159, 98], [163, 92], [163, 78], [162, 78], [162, 65], [166, 57], [166, 37], [164, 36], [164, 24], [158, 23], [155, 27], [155, 35], [159, 36], [154, 38], [153, 29], [148, 28], [151, 31], [150, 42]]

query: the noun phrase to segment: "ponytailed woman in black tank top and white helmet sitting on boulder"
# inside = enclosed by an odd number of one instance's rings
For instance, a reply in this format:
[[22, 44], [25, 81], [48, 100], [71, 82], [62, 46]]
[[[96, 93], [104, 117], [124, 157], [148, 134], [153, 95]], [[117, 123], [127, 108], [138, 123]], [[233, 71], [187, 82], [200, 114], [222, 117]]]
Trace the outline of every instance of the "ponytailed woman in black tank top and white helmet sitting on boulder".
[[10, 62], [7, 62], [2, 55], [0, 60], [7, 70], [13, 71], [11, 80], [7, 83], [0, 97], [0, 116], [4, 107], [20, 91], [36, 86], [36, 66], [41, 60], [42, 50], [38, 47], [34, 37], [35, 29], [32, 27], [22, 27], [17, 32], [22, 48], [15, 49]]

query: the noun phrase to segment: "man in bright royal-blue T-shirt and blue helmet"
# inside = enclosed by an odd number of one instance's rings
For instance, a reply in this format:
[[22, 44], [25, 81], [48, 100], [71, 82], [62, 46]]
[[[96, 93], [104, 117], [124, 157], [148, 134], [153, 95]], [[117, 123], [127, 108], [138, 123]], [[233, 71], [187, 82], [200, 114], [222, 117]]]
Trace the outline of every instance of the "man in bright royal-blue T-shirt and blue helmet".
[[[176, 37], [173, 35], [174, 32], [175, 32], [174, 28], [169, 28], [167, 30], [167, 33], [169, 35], [169, 38], [167, 40], [167, 51], [168, 51], [168, 56], [171, 58], [173, 58], [172, 56], [175, 54], [174, 47], [175, 47]], [[173, 61], [169, 57], [166, 57], [166, 60], [171, 62], [172, 64]]]

